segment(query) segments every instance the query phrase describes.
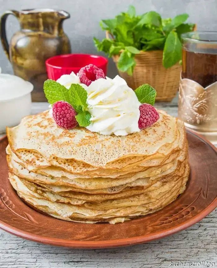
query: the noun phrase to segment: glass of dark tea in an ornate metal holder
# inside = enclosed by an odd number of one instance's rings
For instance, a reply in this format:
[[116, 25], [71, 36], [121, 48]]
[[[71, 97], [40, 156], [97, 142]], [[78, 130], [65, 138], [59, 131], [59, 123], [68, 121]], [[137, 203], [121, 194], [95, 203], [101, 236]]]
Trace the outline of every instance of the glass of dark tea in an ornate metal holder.
[[217, 32], [188, 32], [181, 38], [179, 118], [217, 143]]

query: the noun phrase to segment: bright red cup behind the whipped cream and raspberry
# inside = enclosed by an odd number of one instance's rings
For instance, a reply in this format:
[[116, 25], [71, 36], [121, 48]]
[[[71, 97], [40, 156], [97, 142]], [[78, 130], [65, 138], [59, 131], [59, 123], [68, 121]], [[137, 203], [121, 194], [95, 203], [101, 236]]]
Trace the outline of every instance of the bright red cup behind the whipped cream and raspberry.
[[82, 67], [88, 64], [94, 64], [106, 75], [108, 59], [89, 54], [63, 54], [48, 58], [45, 64], [48, 78], [57, 80], [60, 76], [70, 74], [72, 71], [77, 74]]

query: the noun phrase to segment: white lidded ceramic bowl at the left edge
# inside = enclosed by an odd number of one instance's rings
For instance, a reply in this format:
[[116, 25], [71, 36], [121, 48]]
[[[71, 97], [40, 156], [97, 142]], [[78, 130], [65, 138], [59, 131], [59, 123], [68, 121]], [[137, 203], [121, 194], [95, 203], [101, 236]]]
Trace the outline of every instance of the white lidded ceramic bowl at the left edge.
[[1, 74], [0, 69], [0, 133], [14, 127], [30, 115], [33, 84], [18, 76]]

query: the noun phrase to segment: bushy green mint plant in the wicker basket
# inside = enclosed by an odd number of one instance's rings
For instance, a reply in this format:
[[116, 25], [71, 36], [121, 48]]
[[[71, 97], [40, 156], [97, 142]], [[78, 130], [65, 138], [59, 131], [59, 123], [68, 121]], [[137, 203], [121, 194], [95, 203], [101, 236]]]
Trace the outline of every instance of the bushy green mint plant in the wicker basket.
[[173, 19], [162, 19], [155, 11], [136, 15], [135, 7], [129, 6], [126, 13], [100, 22], [111, 39], [100, 41], [94, 37], [94, 43], [98, 51], [104, 51], [109, 57], [120, 54], [117, 67], [129, 75], [136, 65], [134, 57], [141, 50], [163, 50], [163, 66], [170, 68], [181, 60], [181, 34], [193, 31], [195, 26], [185, 23], [187, 19], [186, 13]]

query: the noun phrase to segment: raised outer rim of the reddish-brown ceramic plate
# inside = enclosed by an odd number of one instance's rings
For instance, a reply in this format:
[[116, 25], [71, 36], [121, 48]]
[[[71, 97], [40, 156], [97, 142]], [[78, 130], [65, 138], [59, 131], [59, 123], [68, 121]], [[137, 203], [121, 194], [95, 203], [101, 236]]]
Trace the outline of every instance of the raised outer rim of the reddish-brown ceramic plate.
[[[194, 136], [196, 136], [197, 138], [205, 142], [208, 146], [210, 146], [217, 153], [217, 148], [213, 144], [211, 144], [208, 140], [206, 140], [203, 136], [190, 130], [186, 130], [186, 132], [193, 134]], [[0, 138], [0, 142], [4, 140], [5, 138], [7, 138], [6, 135]], [[17, 199], [20, 199], [20, 198], [17, 196]], [[4, 231], [7, 231], [8, 233], [12, 235], [15, 235], [15, 236], [27, 239], [27, 240], [31, 240], [34, 242], [43, 243], [43, 244], [63, 246], [63, 247], [69, 247], [69, 248], [74, 248], [74, 249], [115, 248], [115, 247], [129, 246], [129, 245], [135, 245], [135, 244], [142, 244], [142, 243], [150, 242], [152, 240], [157, 240], [160, 238], [164, 238], [166, 236], [173, 235], [179, 231], [183, 231], [186, 228], [192, 226], [193, 224], [201, 221], [208, 214], [210, 214], [213, 210], [215, 210], [216, 207], [217, 207], [217, 197], [215, 197], [215, 199], [213, 199], [212, 202], [204, 210], [199, 212], [197, 215], [184, 221], [183, 223], [180, 223], [174, 227], [168, 228], [163, 233], [162, 231], [157, 231], [155, 233], [149, 233], [145, 236], [143, 235], [143, 236], [135, 236], [131, 238], [113, 239], [113, 240], [100, 240], [100, 241], [80, 240], [79, 241], [79, 240], [65, 240], [65, 239], [60, 239], [60, 238], [51, 238], [49, 236], [40, 236], [40, 235], [31, 234], [27, 231], [20, 231], [18, 228], [11, 227], [7, 223], [2, 223], [1, 219], [0, 219], [0, 228]], [[55, 219], [55, 220], [60, 221], [59, 219]], [[91, 224], [89, 225], [90, 227], [92, 226]]]

